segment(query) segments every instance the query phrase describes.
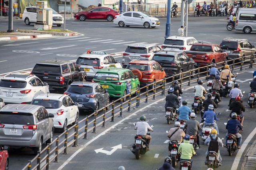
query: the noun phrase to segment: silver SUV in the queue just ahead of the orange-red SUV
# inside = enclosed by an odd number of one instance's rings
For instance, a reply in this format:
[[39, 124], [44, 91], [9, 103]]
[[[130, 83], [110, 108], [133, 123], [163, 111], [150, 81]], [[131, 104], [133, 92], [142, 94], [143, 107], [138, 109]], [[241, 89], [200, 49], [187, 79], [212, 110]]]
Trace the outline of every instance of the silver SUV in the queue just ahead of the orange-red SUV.
[[134, 59], [150, 61], [158, 51], [162, 51], [162, 49], [155, 44], [128, 45], [123, 53], [123, 68], [126, 68], [127, 64]]

